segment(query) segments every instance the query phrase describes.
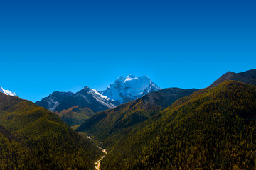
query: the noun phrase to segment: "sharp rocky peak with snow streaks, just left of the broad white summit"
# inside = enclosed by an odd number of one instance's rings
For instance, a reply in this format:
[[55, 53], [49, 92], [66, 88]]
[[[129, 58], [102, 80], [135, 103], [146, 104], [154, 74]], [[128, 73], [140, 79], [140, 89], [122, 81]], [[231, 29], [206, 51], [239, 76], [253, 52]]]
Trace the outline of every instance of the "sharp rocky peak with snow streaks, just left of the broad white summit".
[[55, 108], [56, 112], [63, 111], [73, 106], [80, 106], [80, 108], [90, 108], [93, 112], [103, 111], [114, 108], [113, 101], [106, 96], [100, 94], [100, 91], [90, 89], [85, 86], [82, 90], [64, 98], [62, 102]]

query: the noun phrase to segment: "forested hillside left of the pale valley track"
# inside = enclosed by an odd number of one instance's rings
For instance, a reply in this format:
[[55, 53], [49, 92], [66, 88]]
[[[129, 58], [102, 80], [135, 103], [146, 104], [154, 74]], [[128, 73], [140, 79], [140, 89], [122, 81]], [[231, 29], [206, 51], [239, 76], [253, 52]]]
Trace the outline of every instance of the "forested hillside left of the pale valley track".
[[101, 151], [58, 115], [0, 93], [0, 169], [94, 169]]

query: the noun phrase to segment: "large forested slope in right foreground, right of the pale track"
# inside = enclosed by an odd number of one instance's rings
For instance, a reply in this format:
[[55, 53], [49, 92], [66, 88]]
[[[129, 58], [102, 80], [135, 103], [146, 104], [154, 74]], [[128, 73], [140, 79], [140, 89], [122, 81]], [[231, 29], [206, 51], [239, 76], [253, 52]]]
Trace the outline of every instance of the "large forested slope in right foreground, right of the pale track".
[[225, 81], [105, 143], [102, 169], [256, 169], [255, 130], [256, 87]]

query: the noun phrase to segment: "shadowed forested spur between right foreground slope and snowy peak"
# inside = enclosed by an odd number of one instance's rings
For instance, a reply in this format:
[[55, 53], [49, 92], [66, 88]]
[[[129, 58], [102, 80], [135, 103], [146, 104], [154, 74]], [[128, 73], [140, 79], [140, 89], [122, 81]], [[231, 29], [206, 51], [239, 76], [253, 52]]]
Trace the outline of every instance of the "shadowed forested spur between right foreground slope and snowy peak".
[[[129, 128], [132, 125], [147, 120], [150, 115], [154, 115], [154, 113], [160, 110], [159, 108], [150, 108], [149, 111], [146, 111], [142, 105], [142, 101], [138, 103], [132, 101], [127, 104], [122, 104], [117, 108], [97, 113], [80, 125], [77, 131], [82, 132], [86, 129], [86, 132], [95, 132], [94, 135], [103, 139], [107, 137], [112, 130]], [[90, 128], [90, 130], [87, 130], [88, 128]]]

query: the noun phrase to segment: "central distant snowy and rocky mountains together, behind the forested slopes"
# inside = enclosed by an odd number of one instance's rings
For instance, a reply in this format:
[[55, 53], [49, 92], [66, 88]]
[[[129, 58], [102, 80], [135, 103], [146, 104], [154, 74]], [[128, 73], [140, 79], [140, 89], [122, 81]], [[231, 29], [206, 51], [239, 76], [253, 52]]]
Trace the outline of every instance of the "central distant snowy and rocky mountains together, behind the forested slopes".
[[[57, 113], [69, 125], [79, 125], [89, 118], [88, 115], [91, 113], [115, 108], [121, 103], [127, 103], [160, 89], [149, 77], [129, 75], [119, 77], [105, 91], [90, 89], [88, 86], [75, 94], [55, 91], [41, 101], [37, 101], [36, 104]], [[70, 113], [71, 110], [72, 113]]]

